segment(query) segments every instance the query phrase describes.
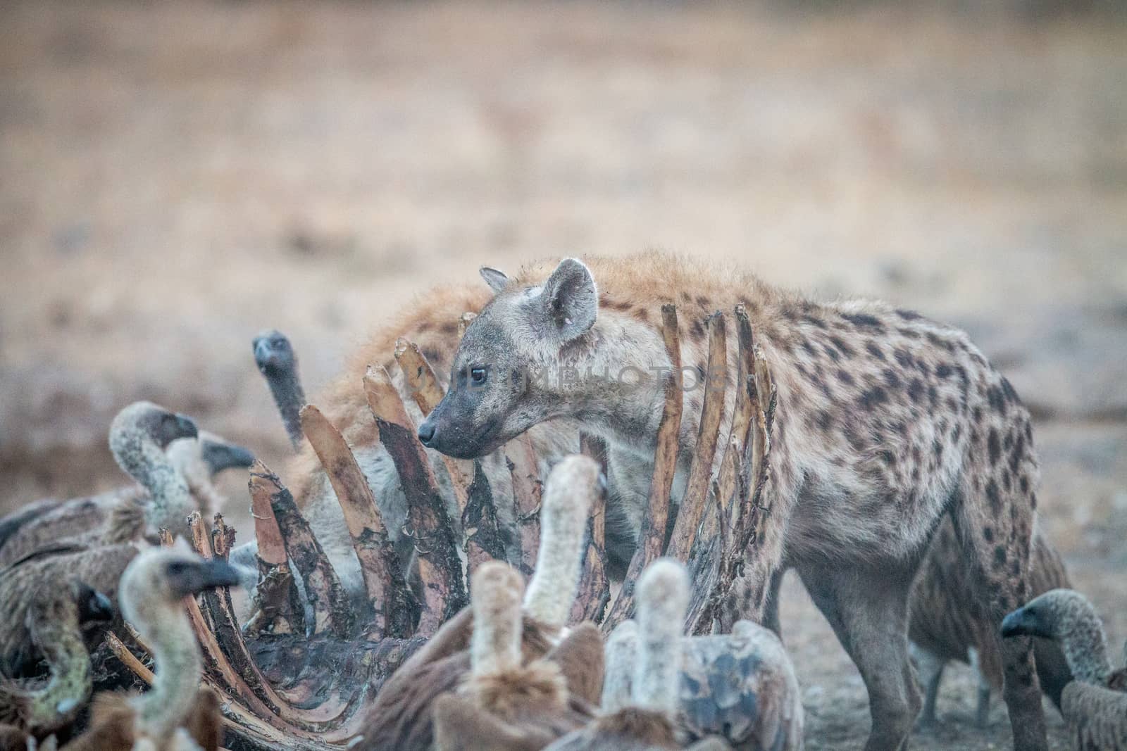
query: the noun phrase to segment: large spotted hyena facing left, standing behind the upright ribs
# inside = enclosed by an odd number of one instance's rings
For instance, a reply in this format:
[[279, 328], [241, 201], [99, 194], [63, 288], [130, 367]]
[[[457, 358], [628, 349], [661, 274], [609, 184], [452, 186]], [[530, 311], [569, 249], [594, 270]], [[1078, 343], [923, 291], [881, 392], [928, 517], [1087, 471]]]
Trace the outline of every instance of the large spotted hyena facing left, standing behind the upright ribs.
[[[612, 471], [648, 467], [662, 415], [655, 368], [669, 366], [660, 305], [677, 304], [681, 360], [700, 372], [704, 318], [746, 307], [779, 390], [775, 495], [722, 620], [761, 620], [772, 575], [797, 569], [864, 679], [867, 749], [903, 748], [920, 709], [907, 598], [946, 515], [978, 617], [993, 629], [1027, 599], [1038, 483], [1029, 413], [964, 332], [876, 302], [811, 302], [738, 269], [656, 252], [483, 276], [496, 294], [461, 341], [446, 397], [419, 426], [424, 444], [455, 457], [564, 419], [607, 439]], [[686, 394], [682, 467], [702, 392]], [[638, 506], [636, 518], [642, 495], [621, 499]], [[1029, 640], [997, 646], [1015, 746], [1046, 749]]]

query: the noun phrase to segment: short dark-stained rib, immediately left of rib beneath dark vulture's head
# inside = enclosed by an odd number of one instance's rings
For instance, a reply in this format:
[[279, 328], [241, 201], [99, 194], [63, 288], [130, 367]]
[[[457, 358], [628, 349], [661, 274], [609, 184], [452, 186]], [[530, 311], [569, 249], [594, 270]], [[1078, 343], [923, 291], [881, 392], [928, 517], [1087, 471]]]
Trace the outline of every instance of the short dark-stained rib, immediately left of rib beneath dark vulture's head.
[[[313, 610], [313, 634], [330, 633], [344, 637], [350, 633], [353, 616], [337, 572], [313, 536], [309, 522], [301, 516], [293, 495], [278, 476], [261, 462], [250, 467], [250, 498], [256, 535], [259, 522], [277, 530], [284, 546], [283, 555], [293, 562], [305, 584], [305, 597]], [[258, 555], [263, 556], [259, 536]], [[277, 553], [273, 554], [275, 565]]]

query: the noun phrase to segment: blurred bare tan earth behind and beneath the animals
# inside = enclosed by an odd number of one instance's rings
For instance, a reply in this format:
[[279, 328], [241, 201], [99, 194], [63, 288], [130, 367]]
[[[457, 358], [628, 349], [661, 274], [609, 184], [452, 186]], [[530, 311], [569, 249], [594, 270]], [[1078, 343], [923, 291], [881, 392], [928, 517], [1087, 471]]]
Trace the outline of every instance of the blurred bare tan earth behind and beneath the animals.
[[[5, 3], [0, 510], [119, 484], [105, 431], [141, 397], [283, 466], [258, 329], [316, 394], [432, 284], [664, 245], [966, 327], [1122, 644], [1125, 50], [1100, 15]], [[796, 581], [783, 616], [808, 748], [859, 748], [860, 678]], [[1009, 745], [971, 687], [914, 748]]]

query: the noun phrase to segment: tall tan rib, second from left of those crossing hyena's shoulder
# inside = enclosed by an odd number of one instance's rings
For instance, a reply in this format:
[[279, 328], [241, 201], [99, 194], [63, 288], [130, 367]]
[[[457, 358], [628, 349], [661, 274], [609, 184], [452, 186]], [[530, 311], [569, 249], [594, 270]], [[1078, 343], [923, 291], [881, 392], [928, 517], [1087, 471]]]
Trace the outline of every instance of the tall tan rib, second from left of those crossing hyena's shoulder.
[[[704, 406], [701, 411], [700, 429], [693, 461], [689, 467], [689, 480], [677, 511], [677, 521], [669, 537], [667, 555], [684, 561], [689, 556], [696, 528], [700, 526], [704, 503], [708, 500], [709, 477], [716, 456], [720, 421], [724, 419], [724, 397], [728, 390], [728, 339], [725, 332], [724, 314], [719, 311], [708, 320], [708, 372], [704, 374]], [[720, 383], [713, 383], [722, 374]]]

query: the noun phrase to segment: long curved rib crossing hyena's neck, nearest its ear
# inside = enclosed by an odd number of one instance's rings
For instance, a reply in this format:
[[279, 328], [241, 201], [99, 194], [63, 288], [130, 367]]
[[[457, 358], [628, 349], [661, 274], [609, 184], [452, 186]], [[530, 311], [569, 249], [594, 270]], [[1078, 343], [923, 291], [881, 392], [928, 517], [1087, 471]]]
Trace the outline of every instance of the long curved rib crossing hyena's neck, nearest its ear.
[[625, 580], [619, 596], [611, 606], [603, 632], [610, 633], [619, 623], [629, 618], [633, 611], [635, 582], [642, 570], [662, 555], [665, 544], [665, 526], [669, 512], [669, 494], [673, 488], [673, 475], [677, 468], [680, 450], [677, 433], [681, 430], [682, 392], [681, 392], [681, 343], [677, 334], [677, 309], [675, 305], [662, 306], [662, 336], [665, 339], [665, 351], [669, 357], [669, 375], [665, 379], [665, 406], [662, 421], [657, 427], [657, 450], [654, 454], [654, 476], [649, 483], [649, 512], [642, 521], [638, 549], [630, 558]]

